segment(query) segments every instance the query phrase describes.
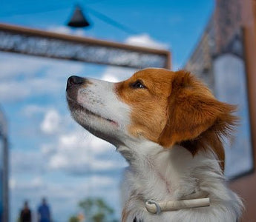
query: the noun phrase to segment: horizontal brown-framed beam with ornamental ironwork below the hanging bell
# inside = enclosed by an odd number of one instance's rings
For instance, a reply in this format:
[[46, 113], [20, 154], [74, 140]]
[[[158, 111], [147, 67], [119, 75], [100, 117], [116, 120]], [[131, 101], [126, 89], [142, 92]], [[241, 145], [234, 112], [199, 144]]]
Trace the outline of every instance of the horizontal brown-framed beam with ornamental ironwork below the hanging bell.
[[168, 50], [0, 24], [0, 50], [121, 67], [170, 67]]

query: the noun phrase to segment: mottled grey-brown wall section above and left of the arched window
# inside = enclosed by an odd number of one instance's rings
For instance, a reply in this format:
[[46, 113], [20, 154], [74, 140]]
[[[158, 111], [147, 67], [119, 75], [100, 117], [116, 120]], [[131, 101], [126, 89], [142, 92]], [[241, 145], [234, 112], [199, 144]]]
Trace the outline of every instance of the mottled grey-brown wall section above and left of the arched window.
[[216, 0], [215, 10], [209, 19], [200, 41], [185, 69], [199, 75], [214, 90], [212, 63], [215, 56], [226, 51], [234, 36], [240, 36], [243, 0]]

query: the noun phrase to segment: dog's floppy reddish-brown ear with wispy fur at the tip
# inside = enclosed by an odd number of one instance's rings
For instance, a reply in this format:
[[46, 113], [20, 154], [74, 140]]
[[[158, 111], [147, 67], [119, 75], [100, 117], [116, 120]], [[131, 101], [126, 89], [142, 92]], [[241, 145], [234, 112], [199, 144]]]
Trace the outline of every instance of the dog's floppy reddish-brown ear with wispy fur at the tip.
[[237, 121], [232, 115], [235, 110], [236, 107], [217, 101], [194, 75], [180, 70], [171, 81], [168, 120], [159, 144], [171, 147], [183, 141], [194, 141], [210, 128], [217, 133], [217, 138], [226, 136]]

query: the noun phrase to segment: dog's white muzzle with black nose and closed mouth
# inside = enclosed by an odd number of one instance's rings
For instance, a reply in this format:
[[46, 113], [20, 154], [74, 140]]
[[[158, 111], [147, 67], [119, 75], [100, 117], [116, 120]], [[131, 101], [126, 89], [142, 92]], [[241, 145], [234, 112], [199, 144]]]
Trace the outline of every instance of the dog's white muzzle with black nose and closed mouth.
[[89, 132], [118, 144], [129, 124], [130, 109], [119, 100], [114, 83], [71, 76], [67, 100], [73, 118]]

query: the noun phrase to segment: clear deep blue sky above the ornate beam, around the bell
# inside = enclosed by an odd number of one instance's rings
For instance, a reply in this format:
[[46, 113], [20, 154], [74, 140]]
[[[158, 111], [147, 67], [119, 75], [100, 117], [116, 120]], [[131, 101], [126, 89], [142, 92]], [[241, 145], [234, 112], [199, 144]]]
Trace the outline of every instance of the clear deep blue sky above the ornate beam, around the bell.
[[[174, 64], [186, 62], [200, 34], [203, 32], [214, 7], [214, 1], [14, 1], [1, 0], [2, 22], [49, 29], [65, 25], [79, 4], [88, 14], [92, 27], [85, 30], [86, 36], [124, 41], [131, 34], [148, 33], [157, 41], [168, 44]], [[88, 10], [87, 10], [88, 7]], [[59, 9], [59, 10], [58, 10]], [[134, 30], [125, 33], [97, 19], [90, 13], [97, 10]], [[49, 10], [49, 11], [47, 11]], [[33, 11], [37, 13], [33, 13]], [[46, 12], [47, 11], [47, 12]], [[16, 16], [17, 15], [17, 16]]]

